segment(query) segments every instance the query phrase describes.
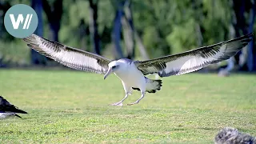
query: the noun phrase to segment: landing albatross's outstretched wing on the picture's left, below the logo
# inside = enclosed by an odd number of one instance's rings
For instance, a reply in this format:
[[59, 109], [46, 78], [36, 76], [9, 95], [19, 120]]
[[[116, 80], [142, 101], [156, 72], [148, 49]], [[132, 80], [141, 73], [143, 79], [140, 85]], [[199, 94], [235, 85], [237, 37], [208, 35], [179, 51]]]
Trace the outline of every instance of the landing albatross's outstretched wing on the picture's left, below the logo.
[[23, 38], [27, 46], [38, 51], [38, 53], [52, 58], [64, 66], [76, 70], [84, 70], [97, 74], [106, 74], [110, 60], [97, 54], [92, 54], [83, 50], [78, 50], [70, 46], [52, 42], [46, 38], [32, 34]]

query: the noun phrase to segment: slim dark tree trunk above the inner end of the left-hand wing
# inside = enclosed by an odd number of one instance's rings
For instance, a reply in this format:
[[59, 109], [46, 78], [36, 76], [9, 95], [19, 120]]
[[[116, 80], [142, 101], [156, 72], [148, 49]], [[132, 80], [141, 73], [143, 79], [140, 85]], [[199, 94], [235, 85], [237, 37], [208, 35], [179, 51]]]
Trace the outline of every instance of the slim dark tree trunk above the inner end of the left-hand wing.
[[100, 54], [99, 36], [98, 36], [98, 0], [89, 0], [90, 2], [90, 39], [93, 43], [94, 53]]

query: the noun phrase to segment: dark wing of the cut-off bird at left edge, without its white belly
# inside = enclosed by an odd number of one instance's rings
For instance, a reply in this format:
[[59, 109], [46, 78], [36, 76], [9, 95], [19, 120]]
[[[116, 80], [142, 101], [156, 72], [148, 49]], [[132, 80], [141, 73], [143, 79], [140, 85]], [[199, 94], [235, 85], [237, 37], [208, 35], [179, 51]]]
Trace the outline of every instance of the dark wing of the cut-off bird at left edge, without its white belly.
[[19, 110], [16, 106], [10, 104], [10, 102], [8, 102], [5, 98], [2, 98], [2, 96], [0, 96], [0, 112], [27, 114], [26, 111]]

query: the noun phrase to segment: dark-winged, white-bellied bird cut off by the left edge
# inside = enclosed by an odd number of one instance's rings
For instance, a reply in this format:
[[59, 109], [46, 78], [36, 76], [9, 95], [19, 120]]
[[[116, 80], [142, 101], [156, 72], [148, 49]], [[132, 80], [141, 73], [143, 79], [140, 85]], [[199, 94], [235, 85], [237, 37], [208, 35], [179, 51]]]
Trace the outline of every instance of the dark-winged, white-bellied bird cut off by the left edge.
[[0, 118], [7, 118], [10, 116], [22, 118], [16, 113], [27, 114], [26, 111], [19, 110], [18, 107], [10, 104], [10, 102], [0, 96]]

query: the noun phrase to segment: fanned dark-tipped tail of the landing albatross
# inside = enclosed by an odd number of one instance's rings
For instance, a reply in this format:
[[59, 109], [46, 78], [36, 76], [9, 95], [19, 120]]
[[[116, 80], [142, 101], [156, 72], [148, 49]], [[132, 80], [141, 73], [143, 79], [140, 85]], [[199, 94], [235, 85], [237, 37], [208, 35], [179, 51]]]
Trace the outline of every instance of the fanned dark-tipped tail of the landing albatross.
[[[162, 86], [162, 80], [160, 79], [149, 79], [146, 78], [146, 92], [148, 93], [155, 93], [157, 90], [161, 90], [161, 86]], [[134, 90], [139, 90], [139, 88], [137, 87], [133, 87]]]

